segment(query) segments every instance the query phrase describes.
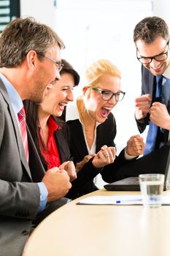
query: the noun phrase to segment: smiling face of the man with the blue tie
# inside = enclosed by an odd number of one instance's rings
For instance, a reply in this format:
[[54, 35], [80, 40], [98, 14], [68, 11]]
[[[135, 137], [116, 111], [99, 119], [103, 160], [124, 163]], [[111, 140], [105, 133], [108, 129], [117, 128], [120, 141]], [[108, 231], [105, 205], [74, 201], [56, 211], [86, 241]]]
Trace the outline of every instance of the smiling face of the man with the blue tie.
[[[158, 56], [161, 53], [166, 53], [169, 50], [167, 41], [163, 37], [157, 37], [155, 41], [151, 42], [149, 45], [145, 44], [142, 39], [136, 40], [136, 48], [139, 56], [142, 57], [153, 57]], [[150, 64], [143, 64], [144, 67], [150, 70], [153, 75], [162, 75], [166, 67], [169, 65], [170, 58], [168, 52], [168, 58], [165, 61], [156, 61], [152, 59]]]

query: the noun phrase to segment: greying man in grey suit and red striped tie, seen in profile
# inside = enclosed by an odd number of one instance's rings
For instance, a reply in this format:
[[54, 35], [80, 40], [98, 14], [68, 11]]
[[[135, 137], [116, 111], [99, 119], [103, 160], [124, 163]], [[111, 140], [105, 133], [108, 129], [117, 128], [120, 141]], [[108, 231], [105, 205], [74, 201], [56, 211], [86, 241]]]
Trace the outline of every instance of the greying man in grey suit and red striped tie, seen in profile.
[[23, 100], [41, 102], [47, 85], [60, 79], [64, 45], [32, 18], [12, 20], [0, 45], [0, 255], [17, 256], [33, 225], [66, 203], [61, 197], [71, 187], [65, 170], [45, 173], [28, 130], [26, 159], [18, 121]]

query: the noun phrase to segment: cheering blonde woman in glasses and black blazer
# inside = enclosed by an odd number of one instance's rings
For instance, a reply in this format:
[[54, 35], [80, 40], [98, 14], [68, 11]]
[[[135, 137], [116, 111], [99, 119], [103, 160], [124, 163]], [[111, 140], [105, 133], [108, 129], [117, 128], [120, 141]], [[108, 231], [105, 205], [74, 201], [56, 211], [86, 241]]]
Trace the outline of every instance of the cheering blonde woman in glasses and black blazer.
[[[121, 101], [125, 92], [120, 89], [120, 71], [107, 59], [95, 61], [85, 71], [87, 83], [82, 88], [82, 95], [77, 98], [77, 116], [67, 121], [71, 135], [71, 154], [77, 168], [77, 177], [82, 166], [93, 159], [102, 146], [115, 147], [116, 123], [111, 110]], [[144, 142], [139, 135], [128, 140], [127, 146], [111, 165], [98, 170], [107, 182], [115, 181], [117, 169], [144, 152]], [[109, 160], [109, 154], [105, 156]], [[98, 174], [88, 170], [85, 177], [91, 177], [82, 194], [96, 189], [93, 178]]]

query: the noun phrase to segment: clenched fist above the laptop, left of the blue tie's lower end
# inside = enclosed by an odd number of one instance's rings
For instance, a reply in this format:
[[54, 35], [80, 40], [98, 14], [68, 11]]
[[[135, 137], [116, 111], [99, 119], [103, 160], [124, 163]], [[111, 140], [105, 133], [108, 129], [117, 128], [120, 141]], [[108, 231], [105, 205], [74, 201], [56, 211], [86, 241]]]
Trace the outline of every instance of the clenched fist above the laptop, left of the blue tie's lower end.
[[144, 154], [144, 141], [140, 135], [132, 136], [125, 147], [125, 152], [129, 156], [139, 156], [140, 154]]

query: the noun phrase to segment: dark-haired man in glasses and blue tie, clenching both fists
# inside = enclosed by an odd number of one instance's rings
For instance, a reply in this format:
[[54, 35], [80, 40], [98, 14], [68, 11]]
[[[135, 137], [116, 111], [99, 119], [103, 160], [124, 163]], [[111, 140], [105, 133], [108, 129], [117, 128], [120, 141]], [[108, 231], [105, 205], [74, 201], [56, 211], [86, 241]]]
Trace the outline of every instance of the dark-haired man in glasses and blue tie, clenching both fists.
[[[136, 57], [142, 63], [142, 95], [136, 99], [136, 123], [139, 132], [144, 132], [152, 121], [155, 133], [150, 134], [149, 129], [147, 138], [154, 143], [144, 157], [117, 170], [112, 181], [140, 173], [165, 173], [169, 156], [170, 54], [166, 22], [158, 17], [144, 18], [135, 26], [134, 43]], [[159, 95], [156, 94], [158, 76], [162, 77]]]

